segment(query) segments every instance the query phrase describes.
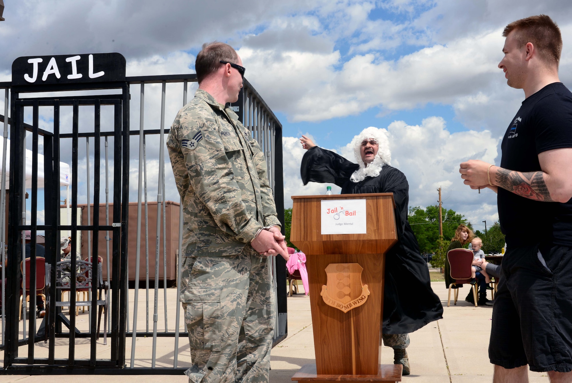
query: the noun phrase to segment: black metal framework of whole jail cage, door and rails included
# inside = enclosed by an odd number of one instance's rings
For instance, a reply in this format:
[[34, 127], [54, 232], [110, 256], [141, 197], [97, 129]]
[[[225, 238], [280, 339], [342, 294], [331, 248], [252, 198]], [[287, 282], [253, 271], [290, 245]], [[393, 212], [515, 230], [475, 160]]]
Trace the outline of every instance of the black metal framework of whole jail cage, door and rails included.
[[[25, 153], [23, 147], [23, 138], [25, 131], [31, 131], [33, 140], [33, 169], [32, 169], [32, 209], [31, 209], [31, 225], [22, 225], [20, 219], [22, 217], [22, 194], [10, 193], [9, 194], [9, 254], [15, 254], [18, 257], [17, 262], [9, 262], [8, 272], [10, 275], [17, 275], [17, 278], [11, 278], [10, 284], [6, 286], [7, 307], [9, 308], [6, 318], [6, 340], [2, 348], [5, 349], [4, 369], [0, 370], [0, 374], [181, 374], [184, 373], [186, 368], [125, 368], [125, 344], [126, 337], [132, 337], [132, 332], [126, 331], [127, 323], [127, 310], [125, 309], [128, 304], [128, 288], [125, 283], [128, 280], [127, 276], [127, 242], [126, 240], [118, 240], [118, 238], [128, 238], [128, 206], [129, 206], [129, 135], [139, 135], [140, 130], [129, 130], [129, 85], [131, 83], [167, 83], [167, 82], [196, 82], [195, 74], [185, 75], [158, 75], [158, 76], [142, 76], [142, 77], [127, 77], [125, 82], [119, 83], [98, 83], [98, 84], [76, 84], [76, 85], [44, 85], [44, 86], [12, 86], [11, 87], [11, 115], [14, 116], [13, 121], [10, 122], [10, 190], [15, 190], [16, 185], [22, 185], [25, 182], [25, 174], [22, 173], [22, 154]], [[0, 83], [0, 87], [9, 87], [10, 83]], [[251, 84], [244, 79], [245, 88], [241, 91], [239, 100], [233, 105], [239, 106], [239, 119], [244, 123], [244, 106], [247, 101], [244, 98], [244, 90], [247, 89], [250, 96], [254, 95], [257, 102], [261, 103], [271, 115], [272, 120], [276, 121], [275, 129], [276, 135], [273, 137], [273, 145], [275, 149], [275, 183], [278, 187], [275, 188], [275, 202], [276, 210], [280, 222], [283, 223], [284, 233], [284, 190], [283, 190], [283, 153], [282, 153], [282, 129], [276, 116], [272, 113], [264, 100], [251, 86]], [[22, 92], [47, 92], [47, 91], [77, 91], [77, 90], [102, 90], [102, 89], [121, 89], [122, 94], [112, 95], [89, 95], [89, 96], [70, 96], [70, 97], [45, 97], [45, 98], [19, 98], [19, 93]], [[59, 133], [59, 106], [72, 105], [73, 106], [73, 133], [60, 134]], [[95, 107], [95, 124], [93, 133], [78, 133], [78, 107], [80, 105], [93, 105]], [[114, 131], [100, 131], [100, 107], [101, 105], [114, 105], [115, 118], [114, 118]], [[28, 125], [23, 123], [23, 107], [33, 107], [33, 123]], [[39, 106], [53, 106], [54, 107], [54, 133], [39, 129], [38, 127], [38, 107]], [[5, 116], [0, 116], [6, 118]], [[2, 121], [3, 121], [2, 118]], [[253, 126], [254, 129], [254, 126]], [[164, 129], [164, 133], [169, 133], [169, 129]], [[147, 134], [160, 134], [159, 129], [146, 129], [144, 135]], [[253, 131], [253, 134], [255, 132]], [[44, 174], [45, 174], [45, 217], [46, 225], [36, 225], [36, 212], [37, 207], [37, 155], [38, 155], [38, 135], [42, 135], [44, 139]], [[114, 179], [121, 179], [121, 189], [114, 187], [113, 191], [113, 217], [121, 217], [120, 227], [118, 225], [99, 225], [98, 222], [98, 209], [94, 209], [93, 225], [77, 225], [77, 172], [72, 173], [72, 224], [71, 225], [58, 225], [59, 222], [59, 182], [54, 182], [52, 175], [59, 174], [59, 138], [72, 138], [73, 154], [72, 154], [72, 168], [77, 169], [78, 161], [78, 138], [79, 137], [94, 137], [95, 138], [95, 155], [96, 158], [100, 157], [100, 137], [113, 136], [114, 139], [114, 164], [121, 158], [122, 166], [114, 165]], [[49, 161], [49, 153], [52, 153], [51, 161]], [[99, 161], [94, 163], [94, 174], [99, 174]], [[274, 176], [274, 175], [273, 175]], [[94, 206], [99, 205], [99, 177], [94, 181]], [[118, 185], [119, 182], [114, 182]], [[121, 204], [115, 203], [121, 201]], [[13, 209], [12, 207], [16, 208]], [[48, 222], [50, 222], [48, 224]], [[97, 222], [97, 224], [96, 224]], [[49, 357], [48, 358], [35, 358], [34, 357], [34, 343], [44, 340], [44, 337], [28, 337], [26, 340], [18, 341], [19, 321], [18, 321], [18, 291], [17, 286], [21, 272], [19, 270], [19, 262], [22, 260], [21, 254], [21, 233], [22, 230], [31, 231], [31, 269], [30, 269], [30, 286], [34, 286], [30, 290], [30, 307], [35, 306], [35, 233], [37, 230], [45, 230], [46, 233], [46, 262], [54, 262], [55, 254], [59, 249], [59, 232], [60, 230], [72, 230], [72, 251], [75, 251], [76, 243], [76, 230], [93, 230], [94, 238], [97, 238], [97, 233], [100, 230], [110, 230], [113, 232], [113, 278], [112, 278], [112, 321], [110, 327], [111, 339], [111, 358], [109, 360], [96, 359], [96, 336], [103, 334], [96, 334], [93, 330], [96, 327], [94, 322], [96, 315], [92, 315], [92, 332], [76, 334], [70, 330], [68, 333], [56, 334], [55, 316], [56, 310], [50, 310], [50, 324], [47, 329], [47, 336], [50, 341]], [[93, 241], [92, 254], [95, 257], [98, 254], [98, 241]], [[50, 258], [50, 259], [48, 259]], [[72, 256], [72, 273], [76, 272], [75, 257]], [[52, 263], [54, 264], [54, 263]], [[280, 313], [287, 312], [286, 301], [286, 275], [285, 275], [285, 261], [281, 257], [276, 258], [276, 279], [277, 279], [277, 316]], [[97, 277], [97, 271], [95, 272]], [[72, 274], [72, 277], [74, 276]], [[51, 274], [52, 283], [49, 294], [55, 298], [55, 273]], [[75, 289], [76, 286], [72, 284], [72, 293], [70, 300], [72, 305], [75, 304]], [[92, 301], [96, 299], [96, 294], [92, 294]], [[54, 301], [54, 300], [52, 300]], [[93, 302], [92, 302], [93, 305]], [[123, 309], [121, 309], [123, 308]], [[70, 316], [70, 328], [75, 326], [75, 316]], [[285, 324], [284, 334], [276, 337], [273, 341], [273, 346], [284, 340], [288, 335], [287, 323]], [[35, 321], [29, 321], [29, 334], [35, 334]], [[180, 333], [187, 335], [186, 333]], [[137, 332], [136, 336], [150, 336], [152, 333]], [[157, 333], [160, 337], [175, 337], [175, 332]], [[59, 338], [70, 338], [69, 358], [55, 358], [54, 357], [54, 340]], [[75, 338], [92, 338], [92, 345], [90, 350], [89, 359], [75, 359], [74, 356], [74, 340]], [[18, 346], [29, 345], [27, 357], [18, 357]]]

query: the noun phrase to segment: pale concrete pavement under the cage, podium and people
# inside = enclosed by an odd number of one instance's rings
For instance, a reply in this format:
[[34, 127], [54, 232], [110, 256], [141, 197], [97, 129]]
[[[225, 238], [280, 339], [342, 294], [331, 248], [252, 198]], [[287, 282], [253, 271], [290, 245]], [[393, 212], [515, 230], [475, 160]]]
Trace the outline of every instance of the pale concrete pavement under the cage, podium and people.
[[[492, 365], [488, 362], [488, 334], [491, 326], [490, 306], [479, 306], [475, 308], [464, 301], [469, 289], [465, 285], [459, 292], [461, 300], [455, 306], [447, 308], [447, 289], [444, 282], [432, 282], [433, 290], [441, 298], [444, 307], [443, 319], [432, 322], [424, 328], [410, 334], [411, 345], [407, 349], [411, 375], [403, 377], [403, 382], [416, 383], [470, 383], [470, 382], [491, 382]], [[301, 286], [300, 286], [301, 288]], [[174, 313], [174, 299], [170, 294], [175, 293], [175, 289], [168, 289], [168, 311]], [[145, 307], [144, 298], [140, 294], [140, 307]], [[133, 290], [130, 290], [133, 300]], [[159, 308], [162, 309], [162, 292], [159, 294]], [[174, 298], [174, 297], [173, 297]], [[142, 300], [141, 300], [142, 299]], [[133, 301], [130, 301], [130, 308], [133, 308]], [[160, 309], [159, 328], [164, 329], [161, 321], [162, 313]], [[145, 329], [145, 317], [141, 314], [144, 309], [140, 309], [138, 318], [138, 330]], [[151, 310], [152, 311], [152, 310]], [[78, 328], [86, 325], [87, 313], [77, 317]], [[169, 316], [169, 329], [173, 329], [174, 315]], [[184, 321], [181, 320], [181, 330]], [[152, 323], [151, 323], [152, 326]], [[144, 366], [150, 363], [152, 338], [138, 338], [136, 365]], [[157, 341], [157, 365], [172, 366], [173, 360], [173, 338], [158, 338]], [[126, 356], [130, 356], [130, 338], [128, 338]], [[67, 350], [67, 342], [58, 340], [58, 348]], [[24, 348], [22, 353], [25, 354]], [[85, 349], [85, 350], [84, 350]], [[85, 339], [77, 340], [76, 350], [78, 357], [88, 357], [89, 341]], [[179, 366], [188, 366], [189, 344], [185, 337], [181, 337], [179, 343]], [[40, 356], [47, 352], [47, 348], [40, 342], [36, 346], [36, 354]], [[108, 346], [102, 345], [102, 340], [98, 342], [98, 353], [104, 357], [109, 353]], [[0, 358], [3, 353], [0, 352]], [[288, 298], [288, 338], [272, 350], [272, 370], [270, 373], [272, 383], [291, 382], [292, 375], [304, 364], [314, 363], [315, 354], [313, 347], [312, 318], [310, 312], [309, 298], [298, 294]], [[393, 362], [393, 351], [391, 348], [383, 347], [382, 362], [391, 364]], [[530, 382], [548, 382], [546, 373], [529, 372]], [[34, 376], [0, 376], [0, 383], [18, 382], [31, 383], [38, 380]], [[101, 382], [188, 382], [185, 376], [81, 376], [82, 383]], [[76, 383], [78, 376], [42, 376], [42, 383]]]

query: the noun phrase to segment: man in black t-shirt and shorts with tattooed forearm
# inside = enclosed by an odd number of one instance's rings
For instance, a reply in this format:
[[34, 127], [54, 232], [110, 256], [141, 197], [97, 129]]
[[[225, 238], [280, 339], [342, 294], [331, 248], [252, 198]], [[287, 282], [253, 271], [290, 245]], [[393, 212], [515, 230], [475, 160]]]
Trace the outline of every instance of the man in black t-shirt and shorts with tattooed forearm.
[[472, 189], [498, 193], [507, 251], [492, 311], [495, 382], [530, 370], [572, 382], [572, 93], [558, 79], [562, 38], [546, 15], [507, 25], [499, 68], [525, 101], [502, 141], [501, 166], [460, 165]]

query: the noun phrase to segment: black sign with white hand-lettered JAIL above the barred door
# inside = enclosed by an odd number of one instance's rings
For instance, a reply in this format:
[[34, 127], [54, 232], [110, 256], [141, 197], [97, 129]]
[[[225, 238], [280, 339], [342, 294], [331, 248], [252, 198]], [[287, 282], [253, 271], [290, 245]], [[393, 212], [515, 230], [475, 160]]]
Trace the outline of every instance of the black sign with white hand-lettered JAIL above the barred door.
[[119, 53], [18, 57], [12, 85], [50, 85], [125, 81], [125, 57]]

